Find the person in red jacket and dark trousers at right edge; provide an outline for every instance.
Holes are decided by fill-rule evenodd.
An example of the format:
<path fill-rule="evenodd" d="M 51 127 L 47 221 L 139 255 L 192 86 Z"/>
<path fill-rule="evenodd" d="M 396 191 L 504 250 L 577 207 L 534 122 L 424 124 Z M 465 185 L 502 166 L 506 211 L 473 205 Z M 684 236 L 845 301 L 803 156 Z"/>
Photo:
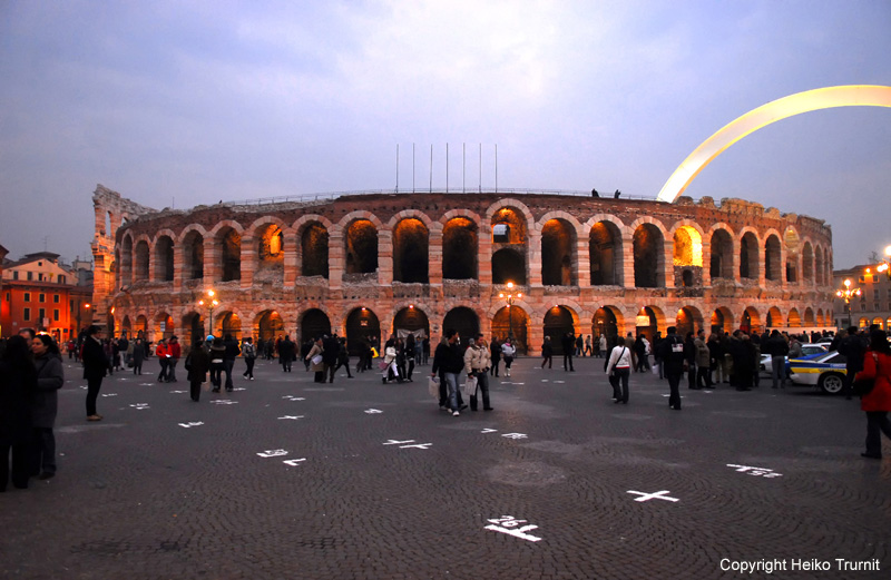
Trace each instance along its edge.
<path fill-rule="evenodd" d="M 872 379 L 875 386 L 860 400 L 860 409 L 866 412 L 866 451 L 864 458 L 882 459 L 882 435 L 891 439 L 891 345 L 884 331 L 870 333 L 870 347 L 863 356 L 863 370 L 855 381 Z"/>

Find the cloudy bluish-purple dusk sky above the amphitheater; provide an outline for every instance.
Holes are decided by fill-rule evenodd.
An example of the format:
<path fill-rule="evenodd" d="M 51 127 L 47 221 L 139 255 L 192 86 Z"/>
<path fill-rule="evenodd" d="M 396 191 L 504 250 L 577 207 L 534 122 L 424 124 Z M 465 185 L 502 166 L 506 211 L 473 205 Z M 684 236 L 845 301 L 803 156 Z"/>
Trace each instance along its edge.
<path fill-rule="evenodd" d="M 654 197 L 771 100 L 891 85 L 891 2 L 0 0 L 0 245 L 89 256 L 97 184 L 156 208 L 395 187 Z M 891 244 L 891 108 L 771 125 L 687 189 Z M 411 205 L 411 197 L 405 197 Z"/>

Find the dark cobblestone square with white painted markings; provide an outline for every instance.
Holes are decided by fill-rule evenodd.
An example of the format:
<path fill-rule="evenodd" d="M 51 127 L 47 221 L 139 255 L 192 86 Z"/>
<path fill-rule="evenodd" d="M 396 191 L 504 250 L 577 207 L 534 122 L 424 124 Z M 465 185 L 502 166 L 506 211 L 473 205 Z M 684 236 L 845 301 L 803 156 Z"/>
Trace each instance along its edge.
<path fill-rule="evenodd" d="M 457 417 L 429 366 L 320 385 L 263 361 L 247 382 L 238 361 L 238 390 L 200 403 L 182 379 L 116 373 L 99 423 L 69 366 L 58 475 L 0 495 L 0 577 L 891 577 L 891 442 L 860 456 L 856 401 L 684 386 L 677 412 L 633 374 L 616 405 L 601 360 L 537 365 Z M 814 561 L 829 570 L 795 570 Z"/>

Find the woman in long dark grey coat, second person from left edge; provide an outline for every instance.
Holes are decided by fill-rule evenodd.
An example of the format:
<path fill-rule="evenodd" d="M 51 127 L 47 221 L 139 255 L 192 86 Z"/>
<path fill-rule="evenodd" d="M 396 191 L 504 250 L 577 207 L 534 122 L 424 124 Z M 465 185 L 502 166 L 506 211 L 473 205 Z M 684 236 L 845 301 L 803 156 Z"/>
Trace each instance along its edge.
<path fill-rule="evenodd" d="M 59 407 L 59 389 L 65 384 L 62 355 L 56 341 L 48 334 L 38 334 L 31 341 L 37 371 L 37 391 L 31 402 L 33 449 L 31 474 L 41 480 L 56 475 L 56 413 Z"/>

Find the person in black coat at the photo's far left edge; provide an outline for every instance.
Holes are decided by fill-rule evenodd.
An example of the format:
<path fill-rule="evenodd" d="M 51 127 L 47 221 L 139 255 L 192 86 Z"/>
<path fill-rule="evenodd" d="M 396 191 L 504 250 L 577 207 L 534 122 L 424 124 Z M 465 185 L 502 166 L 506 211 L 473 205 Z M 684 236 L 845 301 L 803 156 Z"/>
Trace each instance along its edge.
<path fill-rule="evenodd" d="M 28 488 L 30 449 L 33 439 L 31 401 L 37 392 L 37 371 L 31 363 L 28 341 L 12 336 L 0 360 L 0 492 L 9 481 L 9 452 L 12 451 L 12 485 Z"/>

